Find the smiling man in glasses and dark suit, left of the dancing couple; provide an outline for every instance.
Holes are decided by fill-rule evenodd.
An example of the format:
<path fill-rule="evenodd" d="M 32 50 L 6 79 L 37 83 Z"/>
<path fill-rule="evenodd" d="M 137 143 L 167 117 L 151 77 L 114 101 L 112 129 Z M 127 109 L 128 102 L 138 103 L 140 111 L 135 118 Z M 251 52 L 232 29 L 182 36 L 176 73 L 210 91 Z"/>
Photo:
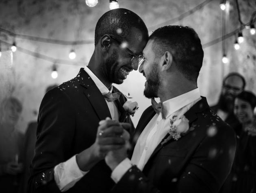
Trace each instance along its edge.
<path fill-rule="evenodd" d="M 41 102 L 30 192 L 110 191 L 114 182 L 104 157 L 124 146 L 125 125 L 104 132 L 97 128 L 106 117 L 124 121 L 126 98 L 112 83 L 123 83 L 138 69 L 147 40 L 144 22 L 130 10 L 114 9 L 100 17 L 88 66 L 46 93 Z"/>

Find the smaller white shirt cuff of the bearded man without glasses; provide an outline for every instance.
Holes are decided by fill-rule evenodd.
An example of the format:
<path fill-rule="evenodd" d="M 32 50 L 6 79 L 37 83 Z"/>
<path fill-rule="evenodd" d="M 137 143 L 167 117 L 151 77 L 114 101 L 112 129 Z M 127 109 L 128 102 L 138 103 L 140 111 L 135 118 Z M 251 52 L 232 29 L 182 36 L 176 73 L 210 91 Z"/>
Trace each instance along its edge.
<path fill-rule="evenodd" d="M 113 170 L 111 174 L 111 178 L 115 183 L 119 182 L 119 180 L 124 176 L 124 174 L 132 167 L 132 162 L 130 159 L 126 158 L 121 161 L 117 167 Z"/>

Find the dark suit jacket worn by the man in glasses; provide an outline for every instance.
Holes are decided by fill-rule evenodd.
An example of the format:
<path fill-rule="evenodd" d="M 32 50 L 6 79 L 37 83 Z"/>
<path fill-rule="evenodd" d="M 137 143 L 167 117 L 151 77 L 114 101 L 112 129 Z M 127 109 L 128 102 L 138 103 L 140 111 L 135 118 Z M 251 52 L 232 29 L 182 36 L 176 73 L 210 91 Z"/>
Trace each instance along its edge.
<path fill-rule="evenodd" d="M 113 92 L 117 91 L 113 87 Z M 125 101 L 122 94 L 115 100 L 121 117 Z M 99 121 L 106 117 L 111 117 L 106 101 L 83 68 L 72 80 L 48 91 L 39 109 L 30 192 L 60 192 L 54 167 L 89 148 L 95 142 Z M 127 122 L 131 122 L 130 118 Z M 108 192 L 113 186 L 110 175 L 111 170 L 102 160 L 66 192 Z"/>

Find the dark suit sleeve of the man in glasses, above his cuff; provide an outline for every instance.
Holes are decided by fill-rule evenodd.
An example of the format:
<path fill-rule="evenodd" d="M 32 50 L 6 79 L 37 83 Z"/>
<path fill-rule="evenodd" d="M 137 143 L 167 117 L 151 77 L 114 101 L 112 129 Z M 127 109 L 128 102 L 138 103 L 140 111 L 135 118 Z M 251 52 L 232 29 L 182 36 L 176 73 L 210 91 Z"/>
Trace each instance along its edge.
<path fill-rule="evenodd" d="M 54 181 L 54 167 L 72 157 L 75 113 L 69 97 L 58 88 L 44 96 L 39 109 L 35 157 L 30 166 L 28 189 L 60 192 Z"/>

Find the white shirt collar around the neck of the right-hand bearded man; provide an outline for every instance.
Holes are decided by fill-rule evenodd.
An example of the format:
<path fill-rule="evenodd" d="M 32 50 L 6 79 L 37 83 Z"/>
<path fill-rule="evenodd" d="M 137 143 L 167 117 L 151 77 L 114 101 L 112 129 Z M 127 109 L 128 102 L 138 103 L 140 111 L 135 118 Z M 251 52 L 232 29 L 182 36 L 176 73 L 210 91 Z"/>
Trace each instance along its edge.
<path fill-rule="evenodd" d="M 175 98 L 166 100 L 165 102 L 163 102 L 163 106 L 166 112 L 165 117 L 168 117 L 169 115 L 173 114 L 180 108 L 190 104 L 191 102 L 199 98 L 201 98 L 199 88 L 196 88 L 196 89 L 193 89 L 192 91 L 179 95 Z"/>

